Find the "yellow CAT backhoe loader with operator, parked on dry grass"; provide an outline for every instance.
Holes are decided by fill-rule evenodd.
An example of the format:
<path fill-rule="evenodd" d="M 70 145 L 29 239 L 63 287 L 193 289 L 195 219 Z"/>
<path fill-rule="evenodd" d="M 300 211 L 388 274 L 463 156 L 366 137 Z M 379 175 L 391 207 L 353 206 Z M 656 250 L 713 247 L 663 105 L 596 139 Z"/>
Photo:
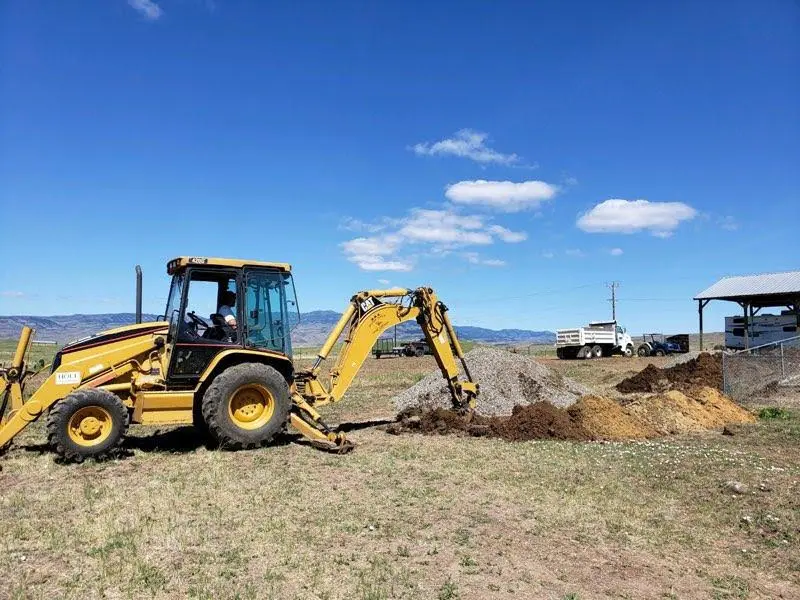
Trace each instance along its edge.
<path fill-rule="evenodd" d="M 129 423 L 193 423 L 230 449 L 268 444 L 291 425 L 314 445 L 345 452 L 353 444 L 317 409 L 342 398 L 381 333 L 411 319 L 425 334 L 453 406 L 465 413 L 474 407 L 478 384 L 447 307 L 430 288 L 354 295 L 313 366 L 297 370 L 290 330 L 299 315 L 288 264 L 179 257 L 167 263 L 167 273 L 172 284 L 162 318 L 141 322 L 137 267 L 136 324 L 64 346 L 27 401 L 33 331 L 23 328 L 10 367 L 0 370 L 0 448 L 46 415 L 48 441 L 66 460 L 109 455 Z M 324 382 L 322 363 L 342 333 Z"/>

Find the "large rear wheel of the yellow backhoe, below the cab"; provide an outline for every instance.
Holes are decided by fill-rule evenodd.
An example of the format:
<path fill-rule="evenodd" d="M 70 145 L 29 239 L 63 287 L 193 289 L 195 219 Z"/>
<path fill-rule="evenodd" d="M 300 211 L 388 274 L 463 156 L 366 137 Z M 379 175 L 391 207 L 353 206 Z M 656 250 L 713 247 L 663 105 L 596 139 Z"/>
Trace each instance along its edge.
<path fill-rule="evenodd" d="M 221 448 L 257 448 L 286 425 L 291 400 L 283 375 L 261 363 L 225 369 L 203 395 L 203 418 Z"/>

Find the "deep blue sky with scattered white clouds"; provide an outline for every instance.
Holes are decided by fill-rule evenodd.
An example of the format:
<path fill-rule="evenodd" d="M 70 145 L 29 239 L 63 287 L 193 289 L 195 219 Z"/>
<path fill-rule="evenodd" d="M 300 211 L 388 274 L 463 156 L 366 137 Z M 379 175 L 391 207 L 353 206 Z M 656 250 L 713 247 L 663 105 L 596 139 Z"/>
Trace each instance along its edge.
<path fill-rule="evenodd" d="M 0 314 L 145 308 L 180 254 L 303 310 L 431 285 L 457 323 L 618 316 L 798 268 L 800 4 L 7 0 Z M 709 307 L 707 329 L 733 308 Z"/>

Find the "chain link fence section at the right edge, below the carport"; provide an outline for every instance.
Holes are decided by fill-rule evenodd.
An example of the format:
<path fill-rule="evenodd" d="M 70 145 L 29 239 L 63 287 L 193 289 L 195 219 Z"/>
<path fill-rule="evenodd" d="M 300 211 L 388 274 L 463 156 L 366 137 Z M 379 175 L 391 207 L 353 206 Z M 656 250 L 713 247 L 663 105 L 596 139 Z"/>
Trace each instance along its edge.
<path fill-rule="evenodd" d="M 800 386 L 800 336 L 722 355 L 723 389 L 735 400 L 772 386 Z"/>

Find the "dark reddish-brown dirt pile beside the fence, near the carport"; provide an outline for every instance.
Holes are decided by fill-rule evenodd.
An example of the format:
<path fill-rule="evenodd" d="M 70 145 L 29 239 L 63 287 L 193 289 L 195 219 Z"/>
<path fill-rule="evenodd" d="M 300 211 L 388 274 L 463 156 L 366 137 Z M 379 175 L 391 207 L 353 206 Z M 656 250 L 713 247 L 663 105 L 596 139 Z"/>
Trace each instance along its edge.
<path fill-rule="evenodd" d="M 624 394 L 665 392 L 669 389 L 686 391 L 693 387 L 721 390 L 722 355 L 704 352 L 697 358 L 666 369 L 650 364 L 636 375 L 623 379 L 616 387 Z"/>

